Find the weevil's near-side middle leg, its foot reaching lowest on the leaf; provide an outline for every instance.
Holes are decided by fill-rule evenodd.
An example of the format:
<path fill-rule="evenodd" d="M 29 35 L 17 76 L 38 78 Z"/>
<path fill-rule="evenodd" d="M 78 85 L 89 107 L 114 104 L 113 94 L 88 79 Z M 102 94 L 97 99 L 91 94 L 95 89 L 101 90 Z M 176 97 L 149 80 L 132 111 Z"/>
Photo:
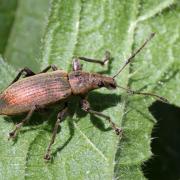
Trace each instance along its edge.
<path fill-rule="evenodd" d="M 67 111 L 68 111 L 68 108 L 67 108 L 67 105 L 65 106 L 65 108 L 63 110 L 61 110 L 58 115 L 57 115 L 57 121 L 55 123 L 55 126 L 54 126 L 54 129 L 53 129 L 53 134 L 52 134 L 52 137 L 51 137 L 51 141 L 48 145 L 48 148 L 47 148 L 47 151 L 46 151 L 46 154 L 44 156 L 44 159 L 46 160 L 50 160 L 51 159 L 51 156 L 50 156 L 50 153 L 51 153 L 51 146 L 53 145 L 54 141 L 55 141 L 55 138 L 56 138 L 56 134 L 57 134 L 57 130 L 58 130 L 58 127 L 60 126 L 60 123 L 63 121 L 63 119 L 65 118 L 66 114 L 67 114 Z"/>

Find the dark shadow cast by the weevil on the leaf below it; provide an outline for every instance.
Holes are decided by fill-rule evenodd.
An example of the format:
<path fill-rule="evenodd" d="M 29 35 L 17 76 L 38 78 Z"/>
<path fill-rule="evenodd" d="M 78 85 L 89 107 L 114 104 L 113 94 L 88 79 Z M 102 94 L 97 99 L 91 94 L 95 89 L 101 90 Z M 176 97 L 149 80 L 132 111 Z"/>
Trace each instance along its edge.
<path fill-rule="evenodd" d="M 68 126 L 69 126 L 69 132 L 70 137 L 67 139 L 67 141 L 61 145 L 55 152 L 53 152 L 52 156 L 55 157 L 58 152 L 60 152 L 62 149 L 64 149 L 68 143 L 71 141 L 71 139 L 74 136 L 74 126 L 71 121 L 71 117 L 76 113 L 77 114 L 77 120 L 76 122 L 80 121 L 83 117 L 87 115 L 86 112 L 82 111 L 79 107 L 79 97 L 72 97 L 70 101 L 68 101 L 68 108 L 69 108 L 69 116 L 68 118 Z M 103 111 L 107 108 L 116 106 L 121 101 L 121 96 L 118 96 L 117 94 L 101 94 L 98 92 L 91 92 L 88 96 L 88 101 L 90 102 L 91 108 L 95 111 Z M 42 128 L 45 131 L 52 132 L 52 129 L 54 128 L 55 121 L 57 119 L 57 114 L 59 110 L 62 109 L 62 105 L 60 107 L 55 106 L 54 109 L 50 108 L 47 109 L 44 113 L 35 112 L 33 116 L 31 117 L 29 124 L 25 125 L 28 128 L 22 128 L 20 130 L 20 133 L 27 133 L 27 131 L 31 130 L 37 130 L 38 128 Z M 52 112 L 53 111 L 53 112 Z M 10 123 L 19 123 L 22 121 L 22 119 L 26 116 L 26 114 L 18 115 L 18 116 L 12 116 L 12 117 L 5 117 L 5 120 Z M 48 123 L 44 126 L 38 126 L 42 125 L 44 121 L 48 119 Z M 94 115 L 90 115 L 90 120 L 92 124 L 100 129 L 101 131 L 109 131 L 111 130 L 111 127 L 105 128 L 104 119 L 99 118 Z M 62 122 L 63 123 L 63 122 Z M 60 129 L 58 130 L 58 133 L 60 133 Z M 18 137 L 15 139 L 14 143 L 16 143 L 18 140 Z"/>

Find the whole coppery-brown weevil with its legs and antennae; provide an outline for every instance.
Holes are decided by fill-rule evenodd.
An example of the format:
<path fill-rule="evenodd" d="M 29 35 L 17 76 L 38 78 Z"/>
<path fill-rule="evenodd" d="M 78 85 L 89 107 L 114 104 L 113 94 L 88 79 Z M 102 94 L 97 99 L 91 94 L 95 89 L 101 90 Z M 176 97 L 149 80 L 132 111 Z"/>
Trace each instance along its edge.
<path fill-rule="evenodd" d="M 64 103 L 64 108 L 58 113 L 57 120 L 52 132 L 50 143 L 47 147 L 44 158 L 50 159 L 51 146 L 55 141 L 56 134 L 60 123 L 65 118 L 68 111 L 68 98 L 70 96 L 80 96 L 80 106 L 83 111 L 100 116 L 109 121 L 112 129 L 117 135 L 120 135 L 122 129 L 118 127 L 109 116 L 92 110 L 87 100 L 88 92 L 91 90 L 105 87 L 107 89 L 115 89 L 120 87 L 131 94 L 149 95 L 158 98 L 161 101 L 166 101 L 163 97 L 152 93 L 143 93 L 130 90 L 118 86 L 115 78 L 120 72 L 134 59 L 147 42 L 154 36 L 152 33 L 149 38 L 137 49 L 125 62 L 122 68 L 113 76 L 108 77 L 98 73 L 82 71 L 80 60 L 97 63 L 100 65 L 106 64 L 110 59 L 110 53 L 105 53 L 103 60 L 90 59 L 86 57 L 75 57 L 73 59 L 73 70 L 70 73 L 64 70 L 58 70 L 55 65 L 50 65 L 38 74 L 35 74 L 29 68 L 23 68 L 12 81 L 12 83 L 0 94 L 0 114 L 16 115 L 27 113 L 26 117 L 18 124 L 15 129 L 9 133 L 9 138 L 15 138 L 20 128 L 28 123 L 33 112 L 37 109 L 44 108 L 54 103 Z M 50 69 L 52 71 L 48 72 Z M 25 77 L 19 79 L 25 73 Z"/>

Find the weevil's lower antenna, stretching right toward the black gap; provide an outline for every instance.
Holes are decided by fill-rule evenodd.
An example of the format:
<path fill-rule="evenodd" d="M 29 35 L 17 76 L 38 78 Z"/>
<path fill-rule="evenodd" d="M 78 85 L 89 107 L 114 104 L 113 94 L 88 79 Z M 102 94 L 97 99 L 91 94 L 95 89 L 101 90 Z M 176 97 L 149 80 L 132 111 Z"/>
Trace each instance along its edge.
<path fill-rule="evenodd" d="M 138 92 L 138 91 L 134 91 L 134 90 L 129 89 L 129 88 L 125 88 L 125 87 L 119 86 L 119 85 L 118 85 L 118 87 L 123 89 L 123 90 L 125 90 L 127 93 L 132 94 L 132 95 L 152 96 L 152 97 L 158 99 L 159 101 L 162 101 L 164 103 L 168 103 L 168 100 L 166 98 L 164 98 L 162 96 L 159 96 L 157 94 L 148 93 L 148 92 Z"/>

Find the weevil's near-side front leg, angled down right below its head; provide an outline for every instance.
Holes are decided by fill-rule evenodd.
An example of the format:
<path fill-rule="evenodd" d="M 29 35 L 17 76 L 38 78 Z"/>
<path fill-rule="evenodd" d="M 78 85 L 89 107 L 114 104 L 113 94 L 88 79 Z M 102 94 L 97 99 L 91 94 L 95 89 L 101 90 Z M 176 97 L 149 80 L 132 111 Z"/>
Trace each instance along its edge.
<path fill-rule="evenodd" d="M 117 127 L 117 125 L 111 120 L 111 118 L 101 112 L 97 112 L 97 111 L 94 111 L 90 108 L 90 104 L 89 102 L 86 100 L 86 99 L 82 99 L 81 100 L 81 108 L 83 111 L 85 112 L 88 112 L 90 114 L 94 114 L 94 115 L 97 115 L 97 116 L 100 116 L 100 117 L 103 117 L 104 119 L 106 119 L 111 127 L 114 129 L 114 131 L 116 132 L 117 135 L 120 135 L 121 132 L 122 132 L 122 129 Z"/>

